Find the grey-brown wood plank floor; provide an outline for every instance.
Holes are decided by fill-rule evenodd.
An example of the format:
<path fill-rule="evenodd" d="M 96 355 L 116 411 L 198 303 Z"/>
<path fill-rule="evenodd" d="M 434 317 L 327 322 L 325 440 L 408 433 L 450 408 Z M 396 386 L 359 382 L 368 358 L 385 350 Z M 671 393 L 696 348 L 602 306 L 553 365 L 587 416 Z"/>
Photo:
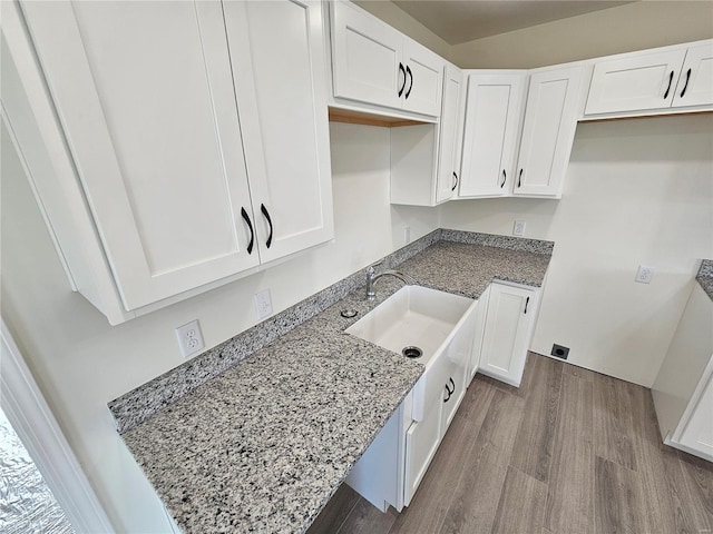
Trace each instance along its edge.
<path fill-rule="evenodd" d="M 651 392 L 529 354 L 477 375 L 411 505 L 345 484 L 307 534 L 713 533 L 713 464 L 661 443 Z"/>

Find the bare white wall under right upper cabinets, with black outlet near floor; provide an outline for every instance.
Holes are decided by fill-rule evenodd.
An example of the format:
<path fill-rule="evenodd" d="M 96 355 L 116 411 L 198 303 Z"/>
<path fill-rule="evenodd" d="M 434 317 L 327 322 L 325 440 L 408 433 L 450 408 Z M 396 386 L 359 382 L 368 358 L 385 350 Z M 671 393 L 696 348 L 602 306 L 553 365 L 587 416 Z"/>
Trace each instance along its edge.
<path fill-rule="evenodd" d="M 449 202 L 448 228 L 555 241 L 531 348 L 649 387 L 713 257 L 713 117 L 579 123 L 560 200 Z M 639 264 L 653 283 L 634 281 Z"/>

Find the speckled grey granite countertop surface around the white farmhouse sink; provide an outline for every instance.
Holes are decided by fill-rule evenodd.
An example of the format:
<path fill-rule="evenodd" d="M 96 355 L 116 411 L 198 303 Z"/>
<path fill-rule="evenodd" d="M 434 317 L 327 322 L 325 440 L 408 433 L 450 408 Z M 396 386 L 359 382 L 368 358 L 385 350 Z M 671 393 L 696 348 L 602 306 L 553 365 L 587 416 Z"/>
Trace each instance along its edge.
<path fill-rule="evenodd" d="M 494 278 L 540 286 L 550 259 L 442 239 L 398 268 L 478 297 Z M 343 333 L 400 287 L 353 290 L 123 434 L 184 533 L 306 531 L 423 372 Z"/>

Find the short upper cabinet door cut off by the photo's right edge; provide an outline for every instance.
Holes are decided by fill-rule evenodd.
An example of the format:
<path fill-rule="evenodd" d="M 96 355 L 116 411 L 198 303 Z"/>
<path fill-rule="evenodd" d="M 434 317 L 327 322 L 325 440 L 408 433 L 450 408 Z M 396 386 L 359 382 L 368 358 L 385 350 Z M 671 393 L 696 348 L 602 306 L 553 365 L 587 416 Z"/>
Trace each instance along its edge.
<path fill-rule="evenodd" d="M 690 48 L 673 107 L 713 105 L 713 42 Z"/>

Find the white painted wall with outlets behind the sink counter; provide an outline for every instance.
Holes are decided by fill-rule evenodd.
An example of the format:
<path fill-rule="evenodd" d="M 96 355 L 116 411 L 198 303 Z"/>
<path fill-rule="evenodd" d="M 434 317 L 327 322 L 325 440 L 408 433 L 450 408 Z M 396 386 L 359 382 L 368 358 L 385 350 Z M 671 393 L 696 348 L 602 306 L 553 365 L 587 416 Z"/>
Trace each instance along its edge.
<path fill-rule="evenodd" d="M 14 149 L 2 131 L 1 301 L 13 337 L 119 532 L 170 532 L 153 488 L 114 431 L 107 402 L 182 364 L 174 328 L 198 318 L 208 347 L 438 227 L 438 212 L 389 205 L 389 130 L 332 123 L 335 238 L 264 273 L 110 327 L 74 294 Z"/>

